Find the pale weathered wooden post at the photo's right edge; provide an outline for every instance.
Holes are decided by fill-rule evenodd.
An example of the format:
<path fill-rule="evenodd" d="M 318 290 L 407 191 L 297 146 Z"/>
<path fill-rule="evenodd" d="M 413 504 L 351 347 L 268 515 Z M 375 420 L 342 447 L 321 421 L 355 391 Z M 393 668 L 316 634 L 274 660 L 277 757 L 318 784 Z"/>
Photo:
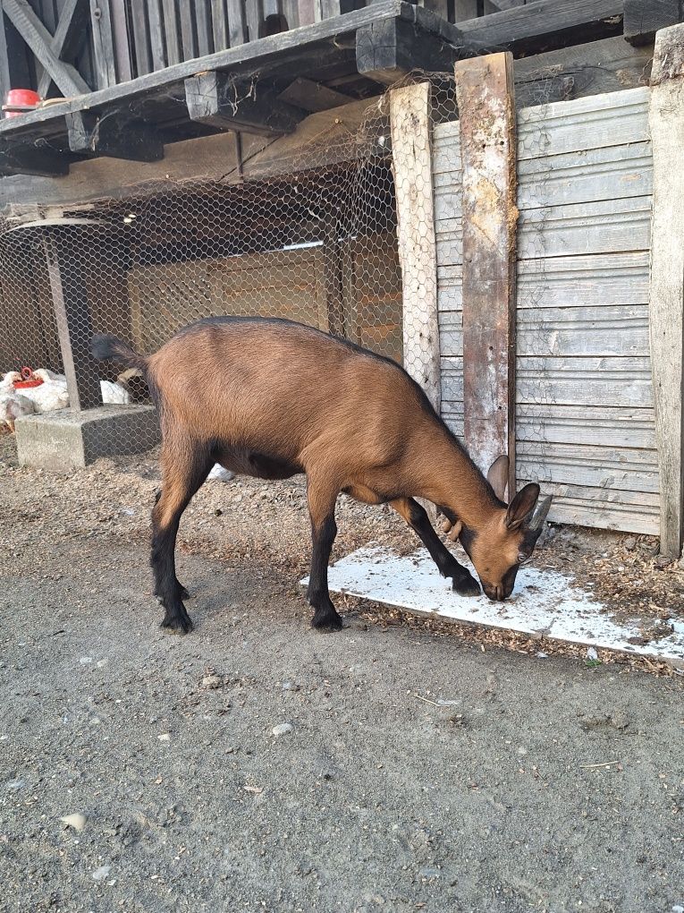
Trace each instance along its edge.
<path fill-rule="evenodd" d="M 648 120 L 653 146 L 650 342 L 660 473 L 660 551 L 679 556 L 684 533 L 684 26 L 658 32 Z"/>

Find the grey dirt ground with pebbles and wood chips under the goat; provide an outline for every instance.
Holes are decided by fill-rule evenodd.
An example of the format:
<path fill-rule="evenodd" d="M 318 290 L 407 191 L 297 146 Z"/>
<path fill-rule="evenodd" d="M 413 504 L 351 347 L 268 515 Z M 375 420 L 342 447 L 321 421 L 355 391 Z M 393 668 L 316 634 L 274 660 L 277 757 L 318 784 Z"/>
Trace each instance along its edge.
<path fill-rule="evenodd" d="M 681 913 L 679 670 L 351 598 L 317 634 L 299 482 L 202 488 L 196 629 L 169 635 L 158 485 L 149 457 L 19 469 L 0 438 L 1 909 Z M 337 557 L 415 548 L 383 509 L 338 526 Z M 681 614 L 654 540 L 555 530 L 537 562 L 645 637 Z"/>

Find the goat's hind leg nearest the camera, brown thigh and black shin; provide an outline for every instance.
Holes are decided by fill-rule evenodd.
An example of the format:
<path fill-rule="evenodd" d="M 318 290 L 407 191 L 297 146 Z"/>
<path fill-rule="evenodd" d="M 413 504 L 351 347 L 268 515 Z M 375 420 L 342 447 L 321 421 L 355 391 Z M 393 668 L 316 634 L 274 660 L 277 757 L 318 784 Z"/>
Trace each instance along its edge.
<path fill-rule="evenodd" d="M 176 577 L 176 536 L 182 512 L 207 477 L 211 459 L 201 446 L 183 444 L 162 450 L 163 486 L 152 510 L 151 565 L 154 593 L 165 610 L 161 626 L 185 634 L 192 629 L 192 621 L 182 602 L 187 592 Z"/>

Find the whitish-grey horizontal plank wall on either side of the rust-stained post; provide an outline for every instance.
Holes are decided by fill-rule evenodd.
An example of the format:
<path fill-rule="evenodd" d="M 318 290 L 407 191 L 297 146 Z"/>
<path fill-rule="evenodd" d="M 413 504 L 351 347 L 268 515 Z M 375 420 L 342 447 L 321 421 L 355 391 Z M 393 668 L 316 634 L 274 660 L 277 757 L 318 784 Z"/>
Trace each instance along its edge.
<path fill-rule="evenodd" d="M 552 519 L 658 533 L 648 89 L 518 114 L 518 486 Z M 461 154 L 434 130 L 442 414 L 462 434 Z"/>

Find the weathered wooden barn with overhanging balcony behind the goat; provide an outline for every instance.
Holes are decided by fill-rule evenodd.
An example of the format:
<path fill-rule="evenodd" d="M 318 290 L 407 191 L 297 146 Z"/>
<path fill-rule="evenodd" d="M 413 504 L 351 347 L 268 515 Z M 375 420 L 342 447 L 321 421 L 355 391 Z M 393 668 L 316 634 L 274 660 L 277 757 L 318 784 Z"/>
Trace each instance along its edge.
<path fill-rule="evenodd" d="M 306 320 L 552 519 L 679 555 L 679 2 L 0 5 L 3 96 L 44 99 L 0 121 L 0 369 L 97 412 L 93 330 Z"/>

